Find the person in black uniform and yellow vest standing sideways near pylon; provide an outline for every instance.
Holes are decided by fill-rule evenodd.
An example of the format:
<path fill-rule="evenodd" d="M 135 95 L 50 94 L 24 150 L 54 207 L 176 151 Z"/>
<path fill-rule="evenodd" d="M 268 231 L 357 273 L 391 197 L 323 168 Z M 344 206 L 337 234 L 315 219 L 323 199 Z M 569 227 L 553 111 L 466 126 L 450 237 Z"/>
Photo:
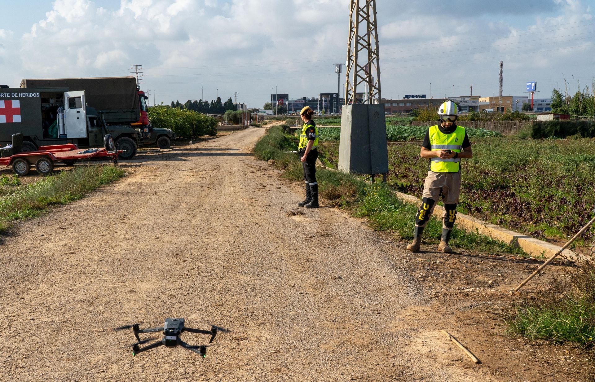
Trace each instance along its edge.
<path fill-rule="evenodd" d="M 300 207 L 318 208 L 318 182 L 316 181 L 316 159 L 318 159 L 318 128 L 312 121 L 314 110 L 306 106 L 299 112 L 303 127 L 299 136 L 300 160 L 302 161 L 303 179 L 306 181 L 306 199 L 297 203 Z"/>

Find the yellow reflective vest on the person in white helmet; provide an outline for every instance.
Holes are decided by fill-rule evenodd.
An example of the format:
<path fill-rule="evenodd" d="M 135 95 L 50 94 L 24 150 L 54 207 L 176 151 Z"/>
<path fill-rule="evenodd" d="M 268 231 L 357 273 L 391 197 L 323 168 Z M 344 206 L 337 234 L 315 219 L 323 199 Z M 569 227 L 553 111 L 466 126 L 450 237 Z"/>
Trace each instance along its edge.
<path fill-rule="evenodd" d="M 438 125 L 430 127 L 431 151 L 451 149 L 453 152 L 461 152 L 463 140 L 465 139 L 465 127 L 457 126 L 450 134 L 444 134 L 438 129 Z M 461 169 L 461 158 L 442 159 L 434 157 L 430 159 L 430 170 L 434 173 L 458 173 Z"/>

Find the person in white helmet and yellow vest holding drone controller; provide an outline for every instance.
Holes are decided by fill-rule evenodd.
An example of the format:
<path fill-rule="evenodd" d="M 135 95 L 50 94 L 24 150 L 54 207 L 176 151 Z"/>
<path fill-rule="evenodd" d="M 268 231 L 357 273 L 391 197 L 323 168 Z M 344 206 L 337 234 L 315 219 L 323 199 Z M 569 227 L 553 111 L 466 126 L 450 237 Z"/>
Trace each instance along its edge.
<path fill-rule="evenodd" d="M 461 158 L 471 158 L 471 143 L 465 128 L 457 126 L 459 107 L 445 101 L 438 109 L 439 122 L 425 133 L 419 156 L 429 159 L 428 175 L 424 181 L 421 206 L 415 215 L 413 242 L 407 246 L 411 252 L 419 251 L 421 234 L 430 220 L 440 196 L 444 205 L 442 237 L 439 252 L 451 253 L 448 242 L 455 226 L 456 205 L 461 192 Z"/>

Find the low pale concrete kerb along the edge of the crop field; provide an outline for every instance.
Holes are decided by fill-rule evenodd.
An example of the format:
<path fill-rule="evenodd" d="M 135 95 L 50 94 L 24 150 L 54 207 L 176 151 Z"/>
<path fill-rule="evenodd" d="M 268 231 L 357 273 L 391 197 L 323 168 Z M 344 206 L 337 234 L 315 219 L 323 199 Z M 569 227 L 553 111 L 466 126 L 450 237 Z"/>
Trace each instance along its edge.
<path fill-rule="evenodd" d="M 328 168 L 324 166 L 320 167 L 323 167 L 331 171 L 337 171 L 334 168 Z M 421 204 L 421 200 L 419 200 L 415 196 L 398 191 L 393 192 L 394 195 L 397 196 L 397 198 L 401 199 L 404 202 L 413 203 L 416 205 Z M 434 215 L 437 218 L 441 219 L 443 214 L 444 209 L 442 208 L 442 206 L 437 205 L 434 208 Z M 515 248 L 521 248 L 523 251 L 527 252 L 529 255 L 534 257 L 543 256 L 549 258 L 550 256 L 553 256 L 556 252 L 560 251 L 560 249 L 562 248 L 560 246 L 553 245 L 552 243 L 536 239 L 535 237 L 507 230 L 506 228 L 496 226 L 496 224 L 487 223 L 487 221 L 479 220 L 477 218 L 461 213 L 456 214 L 456 224 L 458 224 L 458 226 L 464 229 L 465 231 L 477 231 L 479 234 L 491 237 L 494 240 L 499 240 L 500 242 L 504 242 Z M 569 249 L 565 249 L 562 253 L 560 253 L 559 256 L 567 260 L 574 261 L 581 261 L 590 258 L 589 256 L 577 255 L 577 253 L 574 253 Z"/>

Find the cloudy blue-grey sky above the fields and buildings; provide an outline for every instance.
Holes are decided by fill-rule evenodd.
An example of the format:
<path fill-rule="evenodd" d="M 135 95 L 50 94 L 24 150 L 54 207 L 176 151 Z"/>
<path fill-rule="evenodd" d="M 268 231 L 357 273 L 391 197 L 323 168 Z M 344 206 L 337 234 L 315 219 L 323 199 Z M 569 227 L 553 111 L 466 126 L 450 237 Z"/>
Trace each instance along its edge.
<path fill-rule="evenodd" d="M 537 81 L 590 86 L 595 0 L 377 0 L 383 98 L 522 95 Z M 142 64 L 154 102 L 214 99 L 262 107 L 335 92 L 348 0 L 0 0 L 0 83 L 126 76 Z M 341 79 L 345 81 L 344 78 Z M 453 87 L 454 85 L 454 87 Z M 343 96 L 343 89 L 341 90 Z M 273 91 L 274 92 L 274 91 Z"/>

